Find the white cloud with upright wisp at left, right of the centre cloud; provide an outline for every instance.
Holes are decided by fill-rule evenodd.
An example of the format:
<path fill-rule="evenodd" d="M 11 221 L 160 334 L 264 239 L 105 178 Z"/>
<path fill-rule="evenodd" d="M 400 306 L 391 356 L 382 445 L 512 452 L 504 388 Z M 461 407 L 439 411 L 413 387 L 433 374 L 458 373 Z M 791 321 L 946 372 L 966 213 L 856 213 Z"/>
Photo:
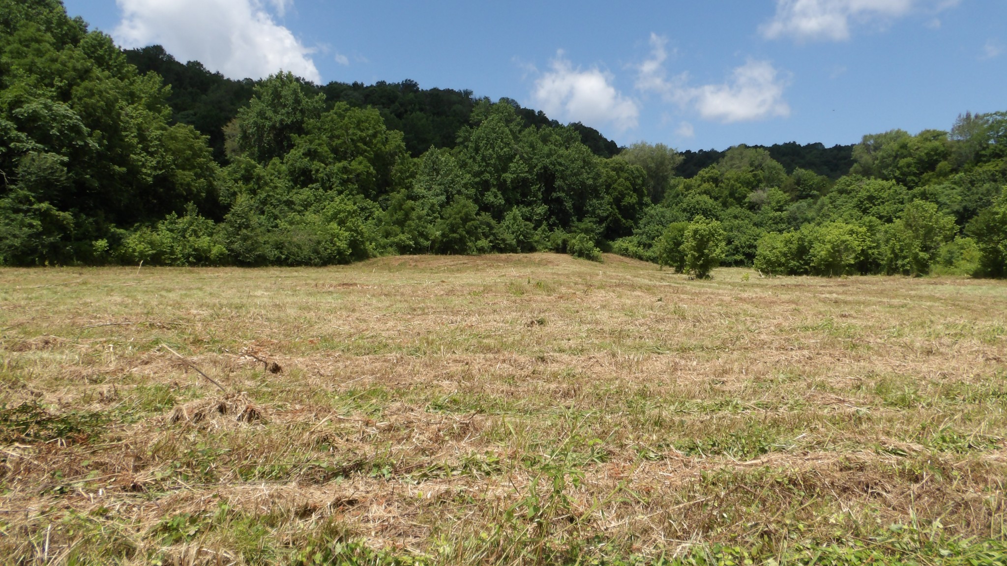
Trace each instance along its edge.
<path fill-rule="evenodd" d="M 668 79 L 666 44 L 667 39 L 651 35 L 651 58 L 637 66 L 638 90 L 691 106 L 704 119 L 725 124 L 789 116 L 790 107 L 783 100 L 787 81 L 769 61 L 749 59 L 724 84 L 690 87 L 687 74 Z"/>

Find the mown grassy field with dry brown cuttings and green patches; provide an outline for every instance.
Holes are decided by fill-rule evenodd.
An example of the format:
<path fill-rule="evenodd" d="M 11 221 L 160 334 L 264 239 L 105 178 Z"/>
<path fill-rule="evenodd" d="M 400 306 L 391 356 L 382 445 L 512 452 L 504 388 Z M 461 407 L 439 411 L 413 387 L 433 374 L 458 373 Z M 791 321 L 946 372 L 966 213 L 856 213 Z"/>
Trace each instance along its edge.
<path fill-rule="evenodd" d="M 0 330 L 4 563 L 1007 563 L 1007 282 L 4 269 Z"/>

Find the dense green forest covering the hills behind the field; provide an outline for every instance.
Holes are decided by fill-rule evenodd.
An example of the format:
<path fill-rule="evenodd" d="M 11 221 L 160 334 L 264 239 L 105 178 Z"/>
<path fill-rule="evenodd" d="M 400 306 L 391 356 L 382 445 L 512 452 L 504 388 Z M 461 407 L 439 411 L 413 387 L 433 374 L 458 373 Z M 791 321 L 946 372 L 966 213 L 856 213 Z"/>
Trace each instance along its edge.
<path fill-rule="evenodd" d="M 231 81 L 0 0 L 0 264 L 297 266 L 602 252 L 696 277 L 1007 275 L 1007 113 L 678 152 L 510 99 Z"/>

